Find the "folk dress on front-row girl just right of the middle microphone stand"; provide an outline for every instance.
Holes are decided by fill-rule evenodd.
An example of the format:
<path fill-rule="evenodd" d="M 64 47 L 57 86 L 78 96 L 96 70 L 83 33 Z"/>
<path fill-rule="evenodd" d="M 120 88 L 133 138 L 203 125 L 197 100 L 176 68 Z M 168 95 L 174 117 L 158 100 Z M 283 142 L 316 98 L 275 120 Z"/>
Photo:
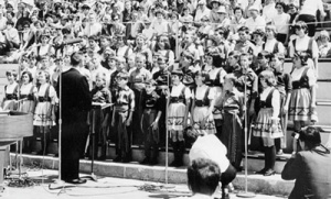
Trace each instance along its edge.
<path fill-rule="evenodd" d="M 184 130 L 185 99 L 188 98 L 192 98 L 192 92 L 182 82 L 172 86 L 168 108 L 168 131 L 182 132 Z M 183 133 L 179 133 L 179 140 L 183 141 Z"/>

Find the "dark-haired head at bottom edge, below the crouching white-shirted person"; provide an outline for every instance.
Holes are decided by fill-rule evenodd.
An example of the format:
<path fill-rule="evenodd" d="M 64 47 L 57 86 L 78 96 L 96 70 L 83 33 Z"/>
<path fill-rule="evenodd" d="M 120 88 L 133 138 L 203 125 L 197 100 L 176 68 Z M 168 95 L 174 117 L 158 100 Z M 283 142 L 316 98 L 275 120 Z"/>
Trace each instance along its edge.
<path fill-rule="evenodd" d="M 193 194 L 212 196 L 218 186 L 218 165 L 206 158 L 196 158 L 188 167 L 188 184 Z"/>

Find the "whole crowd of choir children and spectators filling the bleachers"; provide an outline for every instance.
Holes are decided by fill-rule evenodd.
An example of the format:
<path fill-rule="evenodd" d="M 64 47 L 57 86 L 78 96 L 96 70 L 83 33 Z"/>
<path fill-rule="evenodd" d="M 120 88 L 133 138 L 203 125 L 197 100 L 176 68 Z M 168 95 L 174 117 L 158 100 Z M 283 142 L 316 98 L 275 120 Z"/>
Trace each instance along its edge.
<path fill-rule="evenodd" d="M 0 2 L 0 59 L 20 64 L 7 73 L 2 109 L 33 113 L 42 148 L 56 125 L 55 88 L 73 52 L 84 56 L 78 69 L 93 101 L 114 104 L 98 112 L 97 144 L 113 140 L 116 162 L 130 162 L 131 145 L 145 144 L 142 164 L 157 164 L 168 131 L 171 165 L 181 166 L 190 133 L 215 133 L 239 169 L 247 123 L 249 141 L 258 137 L 265 152 L 259 173 L 273 175 L 287 120 L 296 132 L 318 120 L 318 58 L 331 57 L 328 2 Z M 318 26 L 325 30 L 316 34 Z M 284 73 L 286 57 L 291 74 Z"/>

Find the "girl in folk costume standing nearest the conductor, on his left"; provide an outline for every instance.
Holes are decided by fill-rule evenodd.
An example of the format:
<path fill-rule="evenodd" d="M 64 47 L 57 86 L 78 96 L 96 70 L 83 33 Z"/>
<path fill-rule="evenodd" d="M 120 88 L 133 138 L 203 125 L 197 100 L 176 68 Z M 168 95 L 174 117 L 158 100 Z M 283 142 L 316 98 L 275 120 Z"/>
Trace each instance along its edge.
<path fill-rule="evenodd" d="M 35 139 L 41 140 L 42 150 L 39 154 L 46 154 L 47 143 L 50 142 L 50 130 L 55 125 L 54 106 L 56 92 L 50 84 L 50 74 L 40 71 L 38 74 L 36 106 L 33 118 L 33 125 L 36 126 Z"/>

